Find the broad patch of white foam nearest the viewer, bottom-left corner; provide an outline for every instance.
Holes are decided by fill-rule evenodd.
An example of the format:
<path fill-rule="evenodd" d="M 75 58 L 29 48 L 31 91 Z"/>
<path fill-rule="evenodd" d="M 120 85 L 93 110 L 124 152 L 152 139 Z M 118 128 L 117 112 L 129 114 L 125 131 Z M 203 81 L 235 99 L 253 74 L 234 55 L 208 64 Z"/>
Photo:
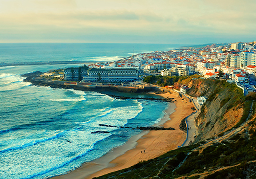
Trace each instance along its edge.
<path fill-rule="evenodd" d="M 0 178 L 45 178 L 42 176 L 48 172 L 63 172 L 62 166 L 87 154 L 94 148 L 95 143 L 109 136 L 110 134 L 96 136 L 90 131 L 72 130 L 50 141 L 4 152 L 1 154 L 3 160 Z M 36 160 L 31 162 L 28 159 Z M 79 165 L 81 163 L 73 163 L 73 168 L 69 170 Z"/>

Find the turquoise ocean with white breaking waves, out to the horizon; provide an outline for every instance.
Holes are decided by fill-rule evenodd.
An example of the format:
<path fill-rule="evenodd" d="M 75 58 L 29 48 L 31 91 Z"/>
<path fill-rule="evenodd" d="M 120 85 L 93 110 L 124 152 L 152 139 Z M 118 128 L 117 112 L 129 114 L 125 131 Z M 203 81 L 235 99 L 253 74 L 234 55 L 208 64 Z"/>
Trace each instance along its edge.
<path fill-rule="evenodd" d="M 176 47 L 178 45 L 170 44 L 0 43 L 0 63 L 113 61 L 131 56 L 133 49 L 136 54 Z M 35 86 L 20 76 L 69 66 L 0 67 L 0 178 L 49 178 L 65 174 L 82 163 L 100 158 L 141 132 L 99 124 L 150 126 L 164 116 L 168 105 L 164 102 L 119 100 L 97 92 Z M 109 133 L 91 133 L 98 130 Z"/>

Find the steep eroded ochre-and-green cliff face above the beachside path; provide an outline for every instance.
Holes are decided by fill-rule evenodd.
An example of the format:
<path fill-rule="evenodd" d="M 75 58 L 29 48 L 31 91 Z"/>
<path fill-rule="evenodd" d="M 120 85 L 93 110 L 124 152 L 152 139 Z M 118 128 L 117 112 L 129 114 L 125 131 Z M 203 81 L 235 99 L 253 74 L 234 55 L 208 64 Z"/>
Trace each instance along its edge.
<path fill-rule="evenodd" d="M 195 142 L 219 135 L 241 120 L 244 103 L 240 102 L 244 97 L 242 89 L 235 84 L 224 80 L 200 79 L 190 80 L 187 85 L 190 88 L 188 95 L 208 98 L 195 120 L 198 127 Z"/>

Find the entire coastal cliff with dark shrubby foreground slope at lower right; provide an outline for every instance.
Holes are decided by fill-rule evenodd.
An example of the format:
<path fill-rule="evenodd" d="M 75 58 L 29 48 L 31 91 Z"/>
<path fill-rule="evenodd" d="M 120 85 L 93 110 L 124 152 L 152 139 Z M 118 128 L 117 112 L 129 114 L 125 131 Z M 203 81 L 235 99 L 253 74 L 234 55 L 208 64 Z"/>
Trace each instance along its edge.
<path fill-rule="evenodd" d="M 188 95 L 206 96 L 195 122 L 197 138 L 187 147 L 98 178 L 254 178 L 256 171 L 255 93 L 243 96 L 233 83 L 190 79 Z M 136 177 L 135 177 L 136 176 Z"/>

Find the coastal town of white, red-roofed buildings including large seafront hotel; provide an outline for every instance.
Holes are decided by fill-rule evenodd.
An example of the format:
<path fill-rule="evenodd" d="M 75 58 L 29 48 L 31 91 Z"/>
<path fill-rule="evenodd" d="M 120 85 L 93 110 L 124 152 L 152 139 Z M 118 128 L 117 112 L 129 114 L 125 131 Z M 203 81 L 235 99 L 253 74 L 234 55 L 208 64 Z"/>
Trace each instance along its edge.
<path fill-rule="evenodd" d="M 122 85 L 144 87 L 144 77 L 201 75 L 201 78 L 221 78 L 236 83 L 244 94 L 255 90 L 256 41 L 211 44 L 202 48 L 140 53 L 111 62 L 84 64 L 79 68 L 52 70 L 43 76 L 62 79 L 76 85 Z M 135 83 L 140 81 L 140 83 Z M 166 86 L 171 87 L 171 86 Z M 182 86 L 184 91 L 187 86 Z"/>

